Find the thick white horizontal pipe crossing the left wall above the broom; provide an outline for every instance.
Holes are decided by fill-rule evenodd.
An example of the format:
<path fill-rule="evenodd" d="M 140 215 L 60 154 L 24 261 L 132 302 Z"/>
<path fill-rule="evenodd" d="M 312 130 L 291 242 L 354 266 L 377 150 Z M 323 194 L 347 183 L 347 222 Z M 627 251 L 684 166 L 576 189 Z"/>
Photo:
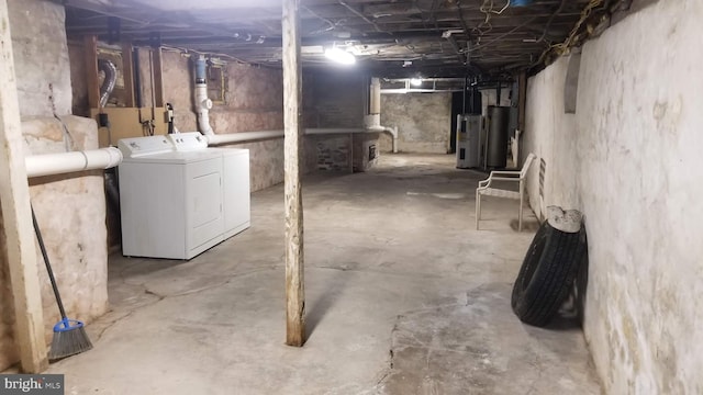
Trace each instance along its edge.
<path fill-rule="evenodd" d="M 109 169 L 122 162 L 115 147 L 85 151 L 32 155 L 24 158 L 27 178 L 55 176 L 74 171 Z"/>

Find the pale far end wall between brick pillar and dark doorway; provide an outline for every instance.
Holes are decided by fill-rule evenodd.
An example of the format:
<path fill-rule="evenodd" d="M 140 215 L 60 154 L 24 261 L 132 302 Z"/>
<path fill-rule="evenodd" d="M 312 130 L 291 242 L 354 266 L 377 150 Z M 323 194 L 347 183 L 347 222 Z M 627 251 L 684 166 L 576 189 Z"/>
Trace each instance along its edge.
<path fill-rule="evenodd" d="M 381 94 L 381 125 L 398 126 L 401 153 L 446 154 L 451 133 L 451 93 Z M 391 153 L 392 138 L 382 134 L 379 150 Z"/>

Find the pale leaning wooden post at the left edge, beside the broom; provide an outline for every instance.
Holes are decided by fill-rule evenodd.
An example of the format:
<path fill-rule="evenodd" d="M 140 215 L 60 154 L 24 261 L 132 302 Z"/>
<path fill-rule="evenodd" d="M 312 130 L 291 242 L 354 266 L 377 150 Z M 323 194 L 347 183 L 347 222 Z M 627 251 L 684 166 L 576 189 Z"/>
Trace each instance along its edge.
<path fill-rule="evenodd" d="M 7 0 L 0 0 L 0 203 L 22 371 L 48 366 Z"/>

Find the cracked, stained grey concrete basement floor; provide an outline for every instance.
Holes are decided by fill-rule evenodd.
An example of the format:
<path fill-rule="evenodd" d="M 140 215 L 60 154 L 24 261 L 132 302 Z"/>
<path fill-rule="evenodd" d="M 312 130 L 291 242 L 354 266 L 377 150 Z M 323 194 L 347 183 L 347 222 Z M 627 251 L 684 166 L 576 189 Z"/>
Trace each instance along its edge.
<path fill-rule="evenodd" d="M 283 345 L 278 185 L 253 194 L 248 230 L 189 262 L 112 256 L 94 349 L 49 372 L 66 394 L 599 394 L 578 327 L 512 314 L 533 232 L 498 199 L 475 230 L 483 177 L 411 155 L 310 176 L 301 349 Z"/>

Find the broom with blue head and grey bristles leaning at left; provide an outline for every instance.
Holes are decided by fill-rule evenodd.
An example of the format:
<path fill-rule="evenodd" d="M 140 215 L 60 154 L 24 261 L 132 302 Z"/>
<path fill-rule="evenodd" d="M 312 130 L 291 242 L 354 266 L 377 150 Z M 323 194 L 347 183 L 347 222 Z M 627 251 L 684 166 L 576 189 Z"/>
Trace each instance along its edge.
<path fill-rule="evenodd" d="M 34 232 L 36 233 L 36 239 L 40 242 L 42 257 L 44 257 L 44 263 L 46 264 L 48 279 L 52 282 L 52 287 L 54 289 L 56 304 L 58 304 L 58 311 L 62 313 L 62 320 L 54 325 L 54 338 L 52 339 L 52 348 L 48 352 L 48 360 L 56 361 L 66 357 L 81 353 L 83 351 L 88 351 L 92 348 L 92 343 L 88 338 L 88 334 L 86 334 L 83 323 L 66 317 L 64 303 L 62 302 L 62 296 L 58 293 L 58 286 L 56 285 L 56 279 L 54 278 L 52 264 L 48 261 L 48 253 L 46 253 L 44 239 L 42 239 L 42 232 L 40 232 L 40 226 L 36 223 L 34 207 L 32 207 L 32 222 L 34 223 Z"/>

